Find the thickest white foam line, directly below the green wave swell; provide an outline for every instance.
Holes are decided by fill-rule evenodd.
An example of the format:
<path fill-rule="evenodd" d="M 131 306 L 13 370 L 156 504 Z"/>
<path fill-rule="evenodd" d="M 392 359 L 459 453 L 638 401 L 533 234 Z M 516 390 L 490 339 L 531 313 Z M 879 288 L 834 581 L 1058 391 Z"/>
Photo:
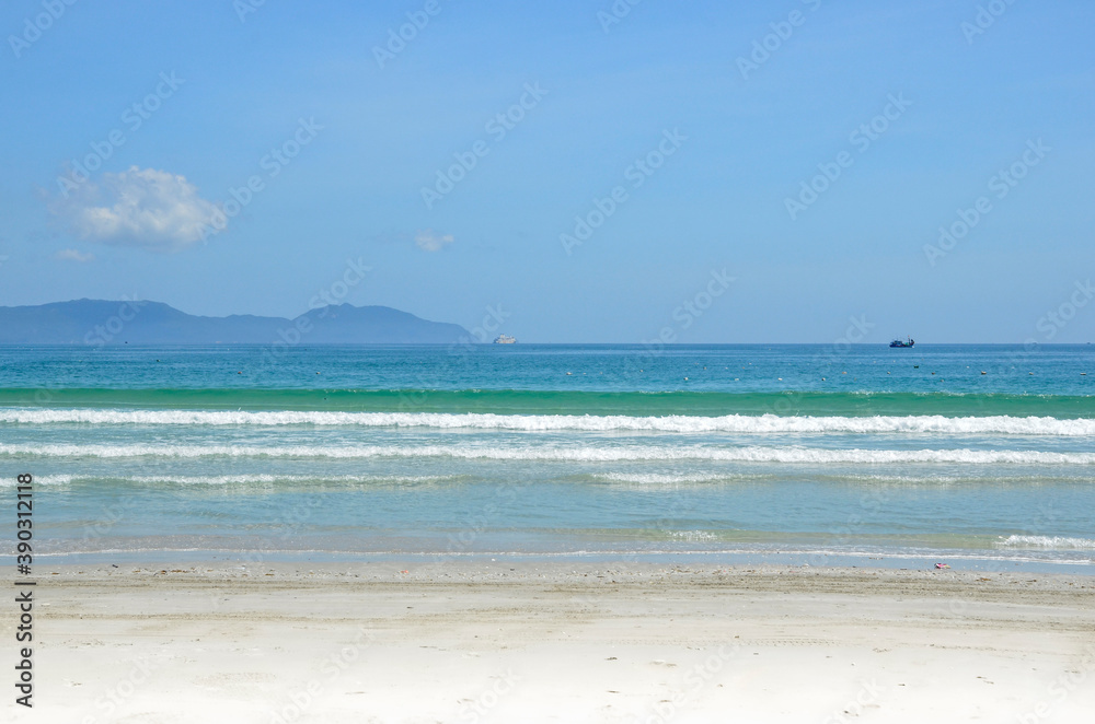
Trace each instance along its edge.
<path fill-rule="evenodd" d="M 653 431 L 726 433 L 927 433 L 1095 436 L 1095 419 L 1049 417 L 875 416 L 780 417 L 775 414 L 627 417 L 591 414 L 451 414 L 435 412 L 323 412 L 245 410 L 0 409 L 0 423 L 154 425 L 343 425 L 550 431 Z"/>

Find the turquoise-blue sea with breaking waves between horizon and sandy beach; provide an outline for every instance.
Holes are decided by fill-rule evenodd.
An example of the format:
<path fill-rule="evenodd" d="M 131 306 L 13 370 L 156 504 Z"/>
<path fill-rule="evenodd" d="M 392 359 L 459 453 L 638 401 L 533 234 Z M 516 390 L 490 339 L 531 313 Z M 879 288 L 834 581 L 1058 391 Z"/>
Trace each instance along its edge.
<path fill-rule="evenodd" d="M 1091 574 L 1095 346 L 4 347 L 19 474 L 39 562 Z"/>

